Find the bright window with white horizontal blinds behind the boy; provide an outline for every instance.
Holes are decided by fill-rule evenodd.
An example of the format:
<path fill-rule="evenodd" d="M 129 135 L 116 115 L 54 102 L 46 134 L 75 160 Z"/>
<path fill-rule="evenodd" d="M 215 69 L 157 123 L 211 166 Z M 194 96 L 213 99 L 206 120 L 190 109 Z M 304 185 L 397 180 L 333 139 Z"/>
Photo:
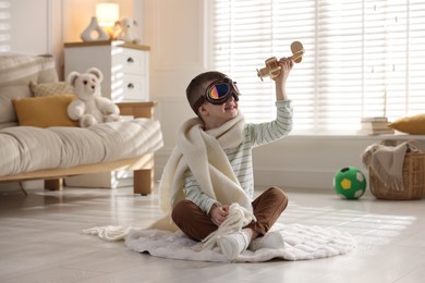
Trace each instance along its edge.
<path fill-rule="evenodd" d="M 251 122 L 274 119 L 274 84 L 256 76 L 270 57 L 305 54 L 287 90 L 294 132 L 341 133 L 363 116 L 425 112 L 422 0 L 214 0 L 211 67 L 239 83 Z"/>

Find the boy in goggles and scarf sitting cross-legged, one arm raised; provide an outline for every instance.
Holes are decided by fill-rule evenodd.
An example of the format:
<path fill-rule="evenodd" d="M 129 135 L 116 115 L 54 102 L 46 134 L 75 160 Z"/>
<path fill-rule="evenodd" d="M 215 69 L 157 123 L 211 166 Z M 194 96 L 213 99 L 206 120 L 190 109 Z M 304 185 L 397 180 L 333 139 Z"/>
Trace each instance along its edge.
<path fill-rule="evenodd" d="M 192 79 L 186 96 L 198 118 L 178 131 L 177 147 L 159 186 L 161 198 L 170 200 L 166 206 L 172 208 L 173 222 L 195 241 L 203 241 L 223 223 L 231 204 L 254 213 L 256 221 L 242 231 L 219 237 L 217 243 L 230 260 L 248 247 L 256 250 L 283 245 L 278 232 L 267 232 L 286 209 L 287 195 L 270 187 L 252 201 L 252 148 L 277 140 L 292 128 L 286 82 L 293 61 L 282 58 L 279 65 L 280 74 L 274 78 L 277 119 L 269 123 L 244 122 L 236 84 L 224 74 L 206 72 Z"/>

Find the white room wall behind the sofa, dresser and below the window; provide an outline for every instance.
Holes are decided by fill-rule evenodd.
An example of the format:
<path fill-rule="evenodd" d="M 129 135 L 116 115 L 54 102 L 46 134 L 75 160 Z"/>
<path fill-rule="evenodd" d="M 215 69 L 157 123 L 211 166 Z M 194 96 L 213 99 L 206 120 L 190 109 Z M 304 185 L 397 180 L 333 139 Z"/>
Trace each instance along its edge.
<path fill-rule="evenodd" d="M 80 40 L 96 2 L 99 1 L 13 0 L 14 16 L 21 21 L 13 22 L 12 50 L 52 52 L 61 61 L 62 50 L 58 47 L 64 41 Z M 139 21 L 143 44 L 151 47 L 150 97 L 158 101 L 156 114 L 165 137 L 165 147 L 156 155 L 156 175 L 159 177 L 174 146 L 177 127 L 193 116 L 185 99 L 185 87 L 192 77 L 208 70 L 207 26 L 204 23 L 204 7 L 208 1 L 117 2 L 120 2 L 121 16 L 129 15 Z M 42 15 L 51 20 L 46 22 Z M 36 25 L 37 36 L 25 37 L 27 25 Z M 253 79 L 256 79 L 255 74 Z M 332 176 L 337 170 L 348 165 L 363 169 L 360 155 L 376 142 L 376 137 L 289 136 L 254 150 L 256 185 L 332 189 Z M 421 146 L 425 149 L 424 142 Z"/>

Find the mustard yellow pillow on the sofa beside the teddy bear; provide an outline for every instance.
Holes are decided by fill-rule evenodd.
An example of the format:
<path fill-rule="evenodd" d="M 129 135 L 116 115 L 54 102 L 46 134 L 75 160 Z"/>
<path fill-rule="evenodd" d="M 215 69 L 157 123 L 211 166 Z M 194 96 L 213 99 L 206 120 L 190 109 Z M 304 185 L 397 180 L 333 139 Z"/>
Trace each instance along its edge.
<path fill-rule="evenodd" d="M 74 95 L 27 97 L 13 100 L 21 126 L 77 126 L 77 121 L 68 116 L 68 106 Z"/>

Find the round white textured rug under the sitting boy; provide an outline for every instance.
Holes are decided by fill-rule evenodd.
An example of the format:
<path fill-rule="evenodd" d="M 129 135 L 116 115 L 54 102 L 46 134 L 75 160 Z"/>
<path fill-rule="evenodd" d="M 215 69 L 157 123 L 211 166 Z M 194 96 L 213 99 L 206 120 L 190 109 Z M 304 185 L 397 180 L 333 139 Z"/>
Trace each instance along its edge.
<path fill-rule="evenodd" d="M 355 247 L 353 236 L 335 229 L 276 223 L 274 230 L 279 230 L 283 235 L 284 248 L 245 250 L 236 261 L 259 262 L 275 258 L 283 260 L 318 259 L 342 255 Z M 228 261 L 217 246 L 212 250 L 203 250 L 201 249 L 201 243 L 187 238 L 181 231 L 172 233 L 159 230 L 132 229 L 125 236 L 125 244 L 132 250 L 148 253 L 155 257 Z"/>

